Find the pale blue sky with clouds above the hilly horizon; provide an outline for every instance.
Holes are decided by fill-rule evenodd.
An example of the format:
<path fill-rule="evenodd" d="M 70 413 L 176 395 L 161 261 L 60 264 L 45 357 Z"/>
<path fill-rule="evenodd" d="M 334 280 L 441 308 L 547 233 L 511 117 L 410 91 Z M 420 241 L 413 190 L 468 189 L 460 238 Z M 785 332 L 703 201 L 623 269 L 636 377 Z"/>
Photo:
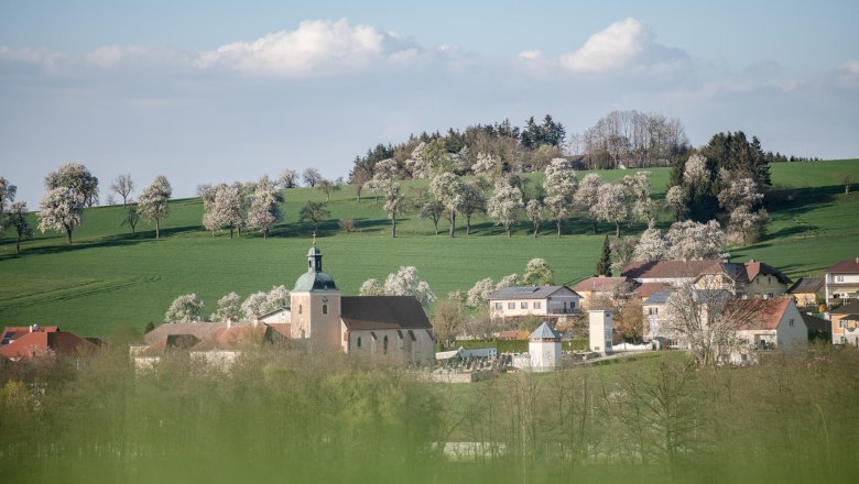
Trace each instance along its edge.
<path fill-rule="evenodd" d="M 283 168 L 346 176 L 410 133 L 548 113 L 679 118 L 859 157 L 853 1 L 0 0 L 0 176 L 37 209 L 85 164 L 175 197 Z"/>

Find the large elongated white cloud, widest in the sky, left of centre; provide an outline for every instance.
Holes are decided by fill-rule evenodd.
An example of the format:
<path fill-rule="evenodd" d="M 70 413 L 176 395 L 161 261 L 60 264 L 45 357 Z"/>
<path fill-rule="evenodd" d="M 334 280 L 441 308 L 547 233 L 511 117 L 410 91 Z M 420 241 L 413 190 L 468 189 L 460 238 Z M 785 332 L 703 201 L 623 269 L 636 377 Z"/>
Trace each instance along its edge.
<path fill-rule="evenodd" d="M 346 19 L 305 21 L 252 42 L 233 42 L 200 54 L 200 68 L 224 68 L 251 75 L 303 77 L 360 70 L 373 63 L 402 63 L 417 55 L 406 36 Z"/>

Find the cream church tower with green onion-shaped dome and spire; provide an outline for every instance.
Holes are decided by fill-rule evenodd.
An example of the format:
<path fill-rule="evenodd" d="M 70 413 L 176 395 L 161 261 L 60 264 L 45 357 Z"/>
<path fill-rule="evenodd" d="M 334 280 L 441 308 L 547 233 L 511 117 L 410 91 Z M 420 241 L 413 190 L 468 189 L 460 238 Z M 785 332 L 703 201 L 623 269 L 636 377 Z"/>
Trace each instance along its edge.
<path fill-rule="evenodd" d="M 315 238 L 307 252 L 307 272 L 290 293 L 290 312 L 293 339 L 307 339 L 314 346 L 340 345 L 340 289 L 323 272 Z"/>

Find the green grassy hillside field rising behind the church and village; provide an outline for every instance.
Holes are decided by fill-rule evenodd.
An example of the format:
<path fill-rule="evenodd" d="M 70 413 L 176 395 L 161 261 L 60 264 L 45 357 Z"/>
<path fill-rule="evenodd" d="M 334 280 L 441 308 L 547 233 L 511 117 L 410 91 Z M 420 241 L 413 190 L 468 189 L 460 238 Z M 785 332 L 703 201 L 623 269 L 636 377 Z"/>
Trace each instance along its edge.
<path fill-rule="evenodd" d="M 752 246 L 731 249 L 735 260 L 758 258 L 800 277 L 819 275 L 833 263 L 859 255 L 859 196 L 844 196 L 835 180 L 844 172 L 859 179 L 859 160 L 779 164 L 771 170 L 770 235 Z M 661 198 L 668 169 L 651 172 L 654 196 Z M 607 180 L 626 174 L 600 172 Z M 532 176 L 529 191 L 541 183 L 541 175 Z M 306 200 L 324 201 L 325 196 L 309 188 L 285 194 L 284 221 L 268 240 L 255 232 L 233 240 L 225 233 L 213 238 L 202 227 L 199 199 L 172 202 L 160 241 L 153 240 L 154 228 L 146 222 L 132 237 L 120 226 L 121 207 L 88 209 L 70 246 L 62 234 L 36 232 L 15 256 L 7 232 L 0 242 L 0 326 L 59 324 L 81 336 L 105 336 L 121 324 L 143 328 L 149 321 L 160 322 L 181 294 L 197 293 L 214 311 L 217 298 L 231 290 L 247 296 L 280 284 L 292 287 L 304 271 L 313 232 L 298 221 L 298 209 Z M 562 238 L 545 222 L 534 239 L 530 223 L 522 221 L 508 239 L 486 217 L 475 217 L 472 233 L 466 237 L 460 217 L 457 238 L 449 239 L 446 221 L 439 222 L 435 235 L 431 221 L 409 215 L 392 239 L 390 221 L 372 194 L 365 193 L 358 202 L 347 186 L 333 195 L 329 208 L 331 217 L 320 227 L 318 245 L 326 271 L 344 294 L 356 294 L 367 278 L 383 279 L 402 265 L 414 265 L 444 297 L 483 277 L 521 273 L 532 257 L 550 263 L 556 283 L 575 283 L 591 275 L 605 233 L 613 233 L 613 226 L 606 224 L 594 235 L 589 222 L 574 217 Z M 354 219 L 358 229 L 342 232 L 340 219 Z M 666 228 L 670 222 L 668 213 L 663 213 L 660 224 Z M 35 227 L 35 217 L 31 223 Z M 622 228 L 627 234 L 641 230 L 642 226 Z"/>

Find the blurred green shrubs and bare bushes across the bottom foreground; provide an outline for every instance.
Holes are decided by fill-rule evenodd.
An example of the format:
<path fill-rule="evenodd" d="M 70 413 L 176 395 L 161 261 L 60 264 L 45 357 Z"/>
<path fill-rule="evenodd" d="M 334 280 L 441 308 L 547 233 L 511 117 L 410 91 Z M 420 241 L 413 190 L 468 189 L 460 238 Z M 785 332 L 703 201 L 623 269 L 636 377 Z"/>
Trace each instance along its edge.
<path fill-rule="evenodd" d="M 124 349 L 0 371 L 8 482 L 856 482 L 859 354 L 698 371 L 684 353 L 425 383 L 390 362 Z M 466 442 L 448 444 L 445 442 Z M 458 450 L 459 453 L 453 450 Z M 607 481 L 608 480 L 608 481 Z"/>

